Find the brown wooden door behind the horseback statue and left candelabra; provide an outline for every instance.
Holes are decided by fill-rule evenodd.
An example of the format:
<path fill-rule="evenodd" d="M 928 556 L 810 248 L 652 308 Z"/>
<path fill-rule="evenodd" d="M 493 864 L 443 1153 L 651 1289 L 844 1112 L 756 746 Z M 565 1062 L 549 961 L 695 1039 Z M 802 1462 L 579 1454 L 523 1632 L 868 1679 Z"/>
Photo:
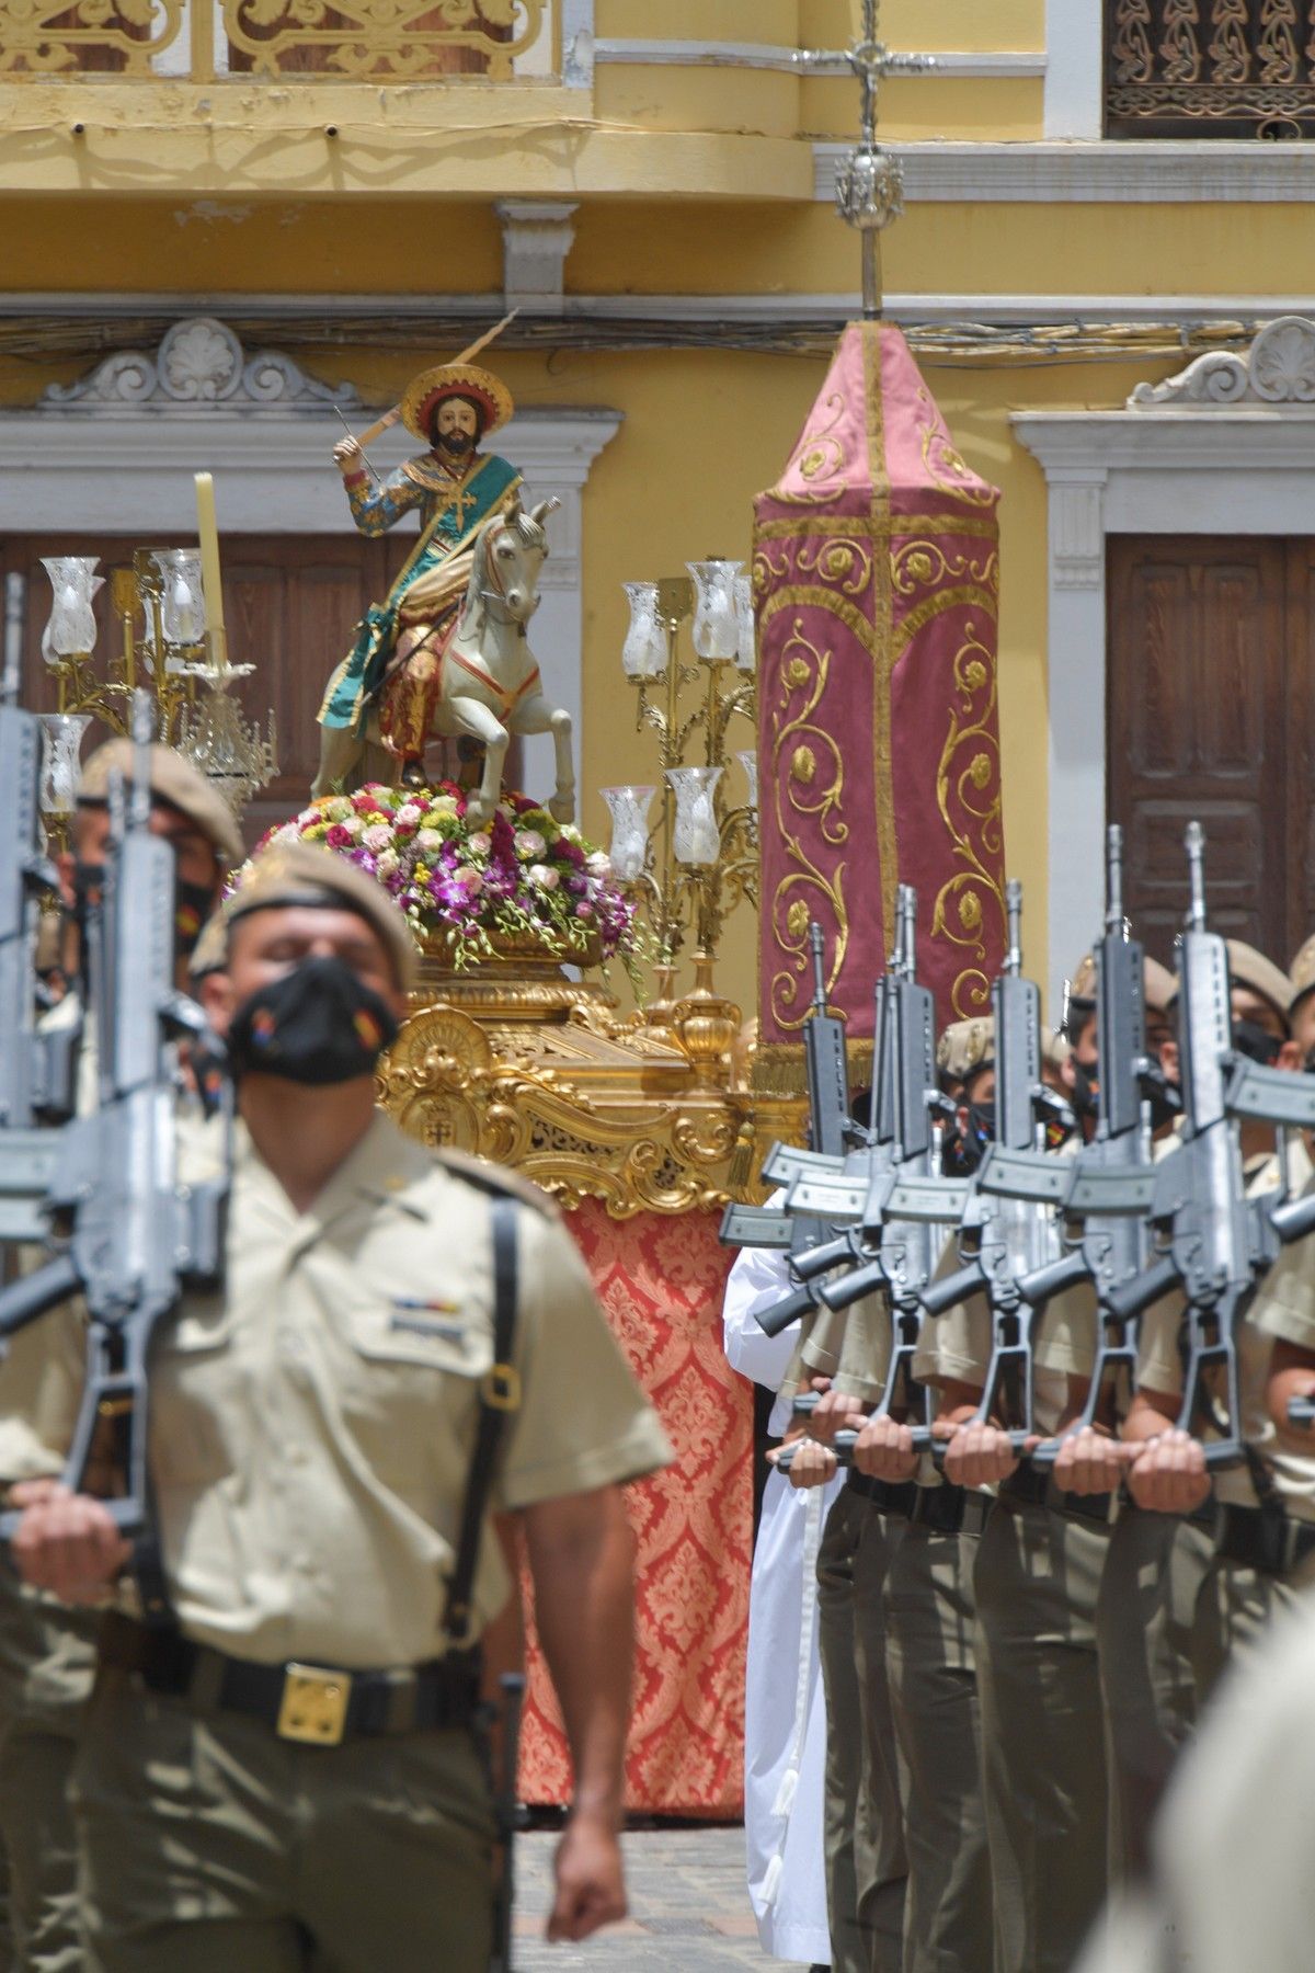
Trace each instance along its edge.
<path fill-rule="evenodd" d="M 158 537 L 150 543 L 162 548 L 183 545 L 187 537 Z M 223 594 L 229 657 L 235 665 L 256 667 L 235 696 L 246 718 L 258 722 L 262 730 L 272 712 L 278 734 L 278 777 L 242 817 L 248 844 L 270 823 L 286 821 L 310 799 L 319 760 L 315 712 L 329 673 L 351 645 L 367 604 L 388 592 L 412 545 L 412 529 L 377 541 L 367 541 L 363 535 L 225 535 Z M 49 616 L 51 594 L 41 556 L 99 554 L 99 574 L 108 576 L 112 568 L 130 566 L 132 548 L 134 543 L 122 537 L 0 537 L 0 576 L 20 570 L 28 580 L 22 691 L 26 706 L 37 712 L 55 706 L 49 673 L 41 663 L 41 629 Z M 97 653 L 104 665 L 120 651 L 108 582 L 97 598 L 97 621 L 101 625 Z M 83 756 L 101 738 L 103 732 L 93 732 Z M 513 742 L 507 756 L 511 785 L 517 785 L 519 764 L 519 744 Z M 453 773 L 455 748 L 440 744 L 430 756 L 430 769 Z"/>

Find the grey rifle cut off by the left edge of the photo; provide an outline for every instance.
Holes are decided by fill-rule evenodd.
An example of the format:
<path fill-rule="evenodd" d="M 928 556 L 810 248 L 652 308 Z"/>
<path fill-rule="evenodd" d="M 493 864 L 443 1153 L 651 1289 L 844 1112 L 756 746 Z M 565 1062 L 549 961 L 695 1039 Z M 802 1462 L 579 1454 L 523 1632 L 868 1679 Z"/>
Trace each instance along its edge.
<path fill-rule="evenodd" d="M 41 829 L 41 720 L 18 706 L 22 576 L 6 578 L 4 679 L 0 681 L 0 1241 L 41 1243 L 39 1202 L 53 1164 L 55 1134 L 41 1125 L 73 1109 L 77 1034 L 45 1036 L 37 1020 L 35 973 L 43 902 L 59 880 Z"/>

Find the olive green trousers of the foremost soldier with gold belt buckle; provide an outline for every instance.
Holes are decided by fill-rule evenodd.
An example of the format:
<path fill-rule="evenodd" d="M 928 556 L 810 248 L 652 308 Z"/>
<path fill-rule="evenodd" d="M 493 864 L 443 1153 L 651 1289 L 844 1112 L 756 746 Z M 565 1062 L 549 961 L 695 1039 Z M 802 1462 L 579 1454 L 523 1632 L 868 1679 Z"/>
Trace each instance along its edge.
<path fill-rule="evenodd" d="M 103 1671 L 73 1811 L 89 1973 L 487 1973 L 469 1732 L 298 1746 Z"/>

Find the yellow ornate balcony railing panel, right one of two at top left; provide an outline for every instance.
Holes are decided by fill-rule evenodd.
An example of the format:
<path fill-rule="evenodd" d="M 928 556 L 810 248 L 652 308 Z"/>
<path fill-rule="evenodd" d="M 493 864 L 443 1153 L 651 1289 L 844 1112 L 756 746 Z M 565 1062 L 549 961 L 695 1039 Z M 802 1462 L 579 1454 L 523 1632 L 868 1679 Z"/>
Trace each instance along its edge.
<path fill-rule="evenodd" d="M 223 0 L 223 22 L 256 75 L 420 79 L 453 73 L 451 57 L 467 51 L 493 81 L 511 81 L 544 10 L 546 0 Z"/>

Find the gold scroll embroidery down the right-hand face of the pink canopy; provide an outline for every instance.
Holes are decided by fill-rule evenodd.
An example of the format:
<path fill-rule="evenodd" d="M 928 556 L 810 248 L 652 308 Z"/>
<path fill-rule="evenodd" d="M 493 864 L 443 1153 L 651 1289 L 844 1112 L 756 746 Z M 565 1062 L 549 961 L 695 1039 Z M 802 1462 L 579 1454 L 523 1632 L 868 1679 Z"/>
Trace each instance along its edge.
<path fill-rule="evenodd" d="M 950 706 L 950 728 L 936 766 L 936 807 L 962 864 L 942 886 L 933 910 L 933 937 L 946 937 L 964 949 L 976 965 L 966 965 L 950 992 L 956 1020 L 984 1014 L 990 1006 L 986 961 L 986 904 L 1004 931 L 1004 896 L 992 876 L 988 858 L 1000 866 L 1004 854 L 1000 748 L 992 730 L 996 714 L 996 661 L 980 639 L 974 621 L 964 627 L 964 643 L 954 653 L 954 685 L 958 704 Z M 994 793 L 982 805 L 980 795 Z M 956 827 L 950 817 L 950 791 L 968 827 Z M 976 827 L 974 827 L 976 825 Z"/>

